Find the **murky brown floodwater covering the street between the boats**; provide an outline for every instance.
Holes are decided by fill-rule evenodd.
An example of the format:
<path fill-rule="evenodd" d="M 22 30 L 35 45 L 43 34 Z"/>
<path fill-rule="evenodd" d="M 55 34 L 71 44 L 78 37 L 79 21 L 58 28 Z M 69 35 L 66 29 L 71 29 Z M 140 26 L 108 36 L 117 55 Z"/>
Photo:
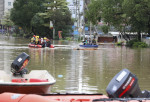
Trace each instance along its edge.
<path fill-rule="evenodd" d="M 137 76 L 141 90 L 150 90 L 150 48 L 105 44 L 98 50 L 74 50 L 75 42 L 55 41 L 54 49 L 29 48 L 28 43 L 27 39 L 0 36 L 0 69 L 10 73 L 13 60 L 26 52 L 29 71 L 48 70 L 55 77 L 52 92 L 106 94 L 108 83 L 123 68 Z"/>

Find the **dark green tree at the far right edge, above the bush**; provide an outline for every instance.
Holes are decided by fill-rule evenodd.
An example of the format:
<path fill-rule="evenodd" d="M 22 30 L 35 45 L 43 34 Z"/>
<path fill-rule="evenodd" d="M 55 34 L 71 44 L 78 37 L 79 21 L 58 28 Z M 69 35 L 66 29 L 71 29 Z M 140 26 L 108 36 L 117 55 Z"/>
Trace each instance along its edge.
<path fill-rule="evenodd" d="M 150 1 L 149 0 L 124 0 L 123 9 L 129 18 L 131 31 L 138 33 L 140 40 L 141 32 L 150 35 Z"/>

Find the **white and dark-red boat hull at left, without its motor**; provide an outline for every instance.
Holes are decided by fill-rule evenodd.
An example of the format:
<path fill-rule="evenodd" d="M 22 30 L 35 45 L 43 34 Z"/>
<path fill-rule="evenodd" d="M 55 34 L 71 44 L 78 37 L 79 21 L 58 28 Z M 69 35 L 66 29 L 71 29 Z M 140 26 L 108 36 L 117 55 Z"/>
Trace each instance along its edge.
<path fill-rule="evenodd" d="M 47 70 L 31 70 L 23 76 L 0 70 L 0 93 L 48 94 L 55 82 Z"/>

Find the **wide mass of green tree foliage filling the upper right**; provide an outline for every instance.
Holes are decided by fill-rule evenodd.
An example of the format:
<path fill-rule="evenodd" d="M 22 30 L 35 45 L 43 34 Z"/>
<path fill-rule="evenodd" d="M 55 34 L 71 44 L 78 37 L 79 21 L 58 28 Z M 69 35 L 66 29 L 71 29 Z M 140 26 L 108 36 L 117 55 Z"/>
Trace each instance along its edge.
<path fill-rule="evenodd" d="M 95 5 L 94 5 L 95 4 Z M 97 8 L 97 10 L 95 10 Z M 150 35 L 150 1 L 149 0 L 94 0 L 89 5 L 87 17 L 95 24 L 101 17 L 108 25 L 120 32 L 145 32 Z M 130 29 L 127 29 L 130 28 Z"/>

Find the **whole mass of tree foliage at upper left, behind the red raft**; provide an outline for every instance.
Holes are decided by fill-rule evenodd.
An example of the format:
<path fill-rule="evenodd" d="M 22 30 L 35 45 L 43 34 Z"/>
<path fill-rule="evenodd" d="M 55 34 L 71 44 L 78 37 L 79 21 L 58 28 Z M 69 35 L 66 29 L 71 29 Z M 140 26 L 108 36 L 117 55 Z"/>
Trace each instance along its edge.
<path fill-rule="evenodd" d="M 55 21 L 56 30 L 69 31 L 71 14 L 65 0 L 16 0 L 11 10 L 11 20 L 26 34 L 37 34 L 52 38 L 49 22 Z M 55 7 L 55 10 L 52 9 Z M 50 9 L 51 8 L 51 9 Z M 31 36 L 31 35 L 30 35 Z"/>

